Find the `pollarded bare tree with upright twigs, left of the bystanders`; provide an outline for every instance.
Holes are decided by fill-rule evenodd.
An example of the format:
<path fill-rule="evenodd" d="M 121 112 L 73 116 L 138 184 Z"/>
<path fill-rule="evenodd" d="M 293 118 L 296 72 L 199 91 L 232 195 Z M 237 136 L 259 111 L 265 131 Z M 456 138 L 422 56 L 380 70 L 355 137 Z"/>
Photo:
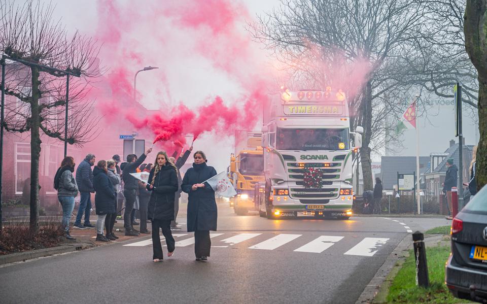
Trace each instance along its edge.
<path fill-rule="evenodd" d="M 90 141 L 96 132 L 90 128 L 98 118 L 84 102 L 88 78 L 97 76 L 93 58 L 96 42 L 75 33 L 71 38 L 53 18 L 53 6 L 39 1 L 24 5 L 10 3 L 2 8 L 0 49 L 9 60 L 6 94 L 17 98 L 6 105 L 4 127 L 11 132 L 30 132 L 30 231 L 39 229 L 39 158 L 41 133 L 69 144 Z M 69 124 L 64 136 L 66 86 L 63 76 L 75 73 L 69 90 Z"/>

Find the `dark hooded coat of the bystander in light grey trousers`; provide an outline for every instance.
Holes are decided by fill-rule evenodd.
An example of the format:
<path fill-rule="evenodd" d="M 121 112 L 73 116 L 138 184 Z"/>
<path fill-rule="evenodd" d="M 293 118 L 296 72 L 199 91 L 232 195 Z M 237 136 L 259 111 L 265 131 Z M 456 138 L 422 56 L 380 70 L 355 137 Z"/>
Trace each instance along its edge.
<path fill-rule="evenodd" d="M 95 166 L 93 169 L 96 214 L 116 213 L 115 190 L 105 171 Z"/>

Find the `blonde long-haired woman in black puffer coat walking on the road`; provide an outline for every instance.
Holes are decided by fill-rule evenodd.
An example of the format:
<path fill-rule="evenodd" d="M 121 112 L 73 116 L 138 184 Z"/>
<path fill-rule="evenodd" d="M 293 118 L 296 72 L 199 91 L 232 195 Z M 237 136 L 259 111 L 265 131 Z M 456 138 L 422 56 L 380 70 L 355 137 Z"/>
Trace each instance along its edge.
<path fill-rule="evenodd" d="M 154 168 L 149 174 L 147 190 L 152 190 L 147 217 L 152 221 L 152 249 L 154 262 L 163 259 L 159 229 L 166 238 L 167 256 L 175 249 L 170 224 L 174 219 L 174 197 L 178 191 L 176 167 L 168 160 L 164 151 L 157 153 Z"/>

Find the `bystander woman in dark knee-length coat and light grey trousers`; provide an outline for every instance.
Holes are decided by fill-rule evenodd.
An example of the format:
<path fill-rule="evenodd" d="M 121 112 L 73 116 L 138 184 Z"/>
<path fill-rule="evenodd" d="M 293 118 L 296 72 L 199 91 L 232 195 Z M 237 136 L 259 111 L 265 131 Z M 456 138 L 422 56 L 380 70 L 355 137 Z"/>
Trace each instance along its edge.
<path fill-rule="evenodd" d="M 108 178 L 107 161 L 100 160 L 93 168 L 93 188 L 95 189 L 95 206 L 98 220 L 96 221 L 96 241 L 110 241 L 103 235 L 103 224 L 109 213 L 115 213 L 115 191 Z"/>

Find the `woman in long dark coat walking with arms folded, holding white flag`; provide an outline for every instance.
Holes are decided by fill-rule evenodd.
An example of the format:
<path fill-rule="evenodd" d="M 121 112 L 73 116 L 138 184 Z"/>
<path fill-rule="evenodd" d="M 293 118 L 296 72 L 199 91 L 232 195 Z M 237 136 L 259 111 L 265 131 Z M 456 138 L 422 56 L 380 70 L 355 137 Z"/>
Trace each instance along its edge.
<path fill-rule="evenodd" d="M 206 156 L 202 151 L 196 151 L 193 157 L 193 167 L 184 175 L 181 188 L 188 193 L 187 225 L 188 232 L 194 231 L 196 260 L 206 261 L 212 246 L 210 230 L 217 230 L 217 203 L 215 191 L 204 181 L 217 175 L 217 172 L 214 167 L 206 165 Z"/>

